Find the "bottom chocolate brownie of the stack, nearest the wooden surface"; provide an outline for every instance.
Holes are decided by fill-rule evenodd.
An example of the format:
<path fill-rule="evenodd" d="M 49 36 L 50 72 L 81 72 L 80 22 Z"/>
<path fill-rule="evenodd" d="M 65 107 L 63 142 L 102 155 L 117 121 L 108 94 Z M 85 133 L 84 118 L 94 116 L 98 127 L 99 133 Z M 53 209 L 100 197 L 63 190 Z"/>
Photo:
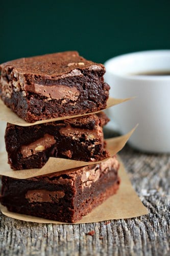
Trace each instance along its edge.
<path fill-rule="evenodd" d="M 114 156 L 100 164 L 24 180 L 3 176 L 0 201 L 19 214 L 77 222 L 116 193 L 118 168 Z"/>

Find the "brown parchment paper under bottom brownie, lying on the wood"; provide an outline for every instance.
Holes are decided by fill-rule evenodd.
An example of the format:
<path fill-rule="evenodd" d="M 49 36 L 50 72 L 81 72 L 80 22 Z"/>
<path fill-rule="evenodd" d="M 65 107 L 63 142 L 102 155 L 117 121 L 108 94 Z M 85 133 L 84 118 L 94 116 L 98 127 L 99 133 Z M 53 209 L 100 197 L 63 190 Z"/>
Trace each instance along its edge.
<path fill-rule="evenodd" d="M 134 191 L 128 175 L 125 171 L 125 167 L 121 161 L 119 168 L 119 177 L 121 179 L 121 183 L 116 195 L 113 195 L 112 197 L 107 199 L 102 205 L 96 207 L 92 212 L 90 212 L 90 214 L 84 216 L 81 221 L 74 224 L 128 219 L 148 214 L 147 208 L 143 206 L 136 192 Z M 4 215 L 17 220 L 37 223 L 62 223 L 33 216 L 16 214 L 14 212 L 8 211 L 7 208 L 1 204 L 0 209 Z"/>

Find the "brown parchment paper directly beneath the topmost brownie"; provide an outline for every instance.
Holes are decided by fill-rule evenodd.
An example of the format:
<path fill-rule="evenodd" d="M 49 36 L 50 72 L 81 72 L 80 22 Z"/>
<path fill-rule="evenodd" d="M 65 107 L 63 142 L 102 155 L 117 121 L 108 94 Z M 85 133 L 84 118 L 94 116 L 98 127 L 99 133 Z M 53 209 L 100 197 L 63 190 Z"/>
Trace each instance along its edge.
<path fill-rule="evenodd" d="M 111 108 L 111 106 L 114 106 L 114 105 L 123 103 L 125 101 L 128 101 L 132 98 L 115 99 L 115 98 L 109 97 L 109 99 L 107 101 L 107 108 L 106 109 Z M 5 121 L 5 122 L 8 122 L 8 123 L 12 123 L 12 124 L 20 125 L 20 126 L 31 126 L 31 125 L 40 124 L 40 123 L 59 121 L 59 120 L 68 119 L 68 118 L 74 118 L 74 117 L 79 117 L 79 116 L 95 114 L 95 113 L 99 113 L 103 110 L 106 110 L 106 109 L 103 109 L 103 110 L 100 110 L 100 111 L 96 111 L 96 112 L 92 112 L 92 113 L 86 113 L 86 114 L 82 114 L 82 115 L 58 117 L 58 118 L 53 118 L 53 119 L 46 119 L 46 120 L 42 120 L 42 121 L 36 121 L 34 123 L 28 123 L 25 120 L 22 120 L 20 117 L 18 117 L 14 112 L 12 112 L 4 104 L 4 102 L 2 100 L 0 100 L 0 109 L 1 109 L 1 111 L 0 111 L 0 121 Z"/>

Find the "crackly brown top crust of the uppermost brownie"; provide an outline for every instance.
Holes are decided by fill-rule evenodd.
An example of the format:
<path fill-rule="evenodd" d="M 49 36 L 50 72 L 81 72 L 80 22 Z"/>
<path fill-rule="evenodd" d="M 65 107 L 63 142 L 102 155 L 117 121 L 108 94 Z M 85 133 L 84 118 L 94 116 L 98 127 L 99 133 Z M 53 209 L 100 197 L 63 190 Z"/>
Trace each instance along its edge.
<path fill-rule="evenodd" d="M 14 69 L 19 74 L 46 75 L 52 78 L 64 78 L 65 74 L 79 75 L 80 70 L 83 69 L 105 73 L 105 67 L 102 64 L 86 60 L 76 51 L 11 60 L 0 66 L 0 70 L 4 68 Z"/>

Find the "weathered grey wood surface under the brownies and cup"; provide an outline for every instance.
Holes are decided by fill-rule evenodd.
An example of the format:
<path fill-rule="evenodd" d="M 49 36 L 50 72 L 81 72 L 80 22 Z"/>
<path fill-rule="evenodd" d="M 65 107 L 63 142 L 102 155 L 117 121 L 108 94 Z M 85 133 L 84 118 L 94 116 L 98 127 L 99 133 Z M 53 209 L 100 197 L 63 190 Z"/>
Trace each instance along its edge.
<path fill-rule="evenodd" d="M 91 224 L 53 225 L 0 215 L 0 255 L 170 255 L 170 155 L 126 146 L 120 157 L 149 215 Z M 93 236 L 89 231 L 95 231 Z"/>

